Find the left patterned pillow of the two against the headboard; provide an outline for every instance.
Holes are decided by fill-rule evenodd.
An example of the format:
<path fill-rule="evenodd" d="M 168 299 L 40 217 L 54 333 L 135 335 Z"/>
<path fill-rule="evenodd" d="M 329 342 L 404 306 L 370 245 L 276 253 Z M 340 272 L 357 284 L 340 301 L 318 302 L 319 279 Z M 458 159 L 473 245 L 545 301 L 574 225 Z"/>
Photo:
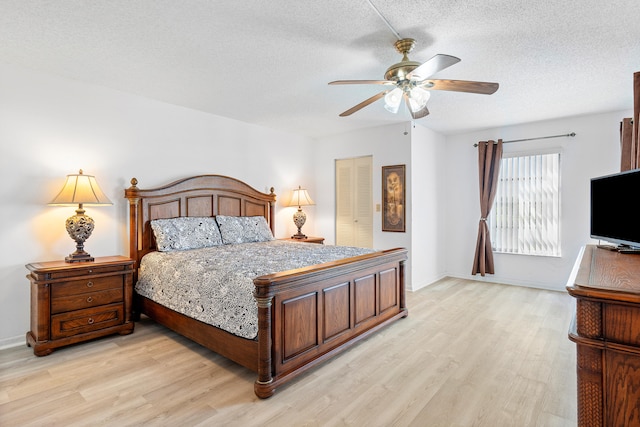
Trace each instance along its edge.
<path fill-rule="evenodd" d="M 200 249 L 222 244 L 218 223 L 213 217 L 154 219 L 151 229 L 160 252 Z"/>

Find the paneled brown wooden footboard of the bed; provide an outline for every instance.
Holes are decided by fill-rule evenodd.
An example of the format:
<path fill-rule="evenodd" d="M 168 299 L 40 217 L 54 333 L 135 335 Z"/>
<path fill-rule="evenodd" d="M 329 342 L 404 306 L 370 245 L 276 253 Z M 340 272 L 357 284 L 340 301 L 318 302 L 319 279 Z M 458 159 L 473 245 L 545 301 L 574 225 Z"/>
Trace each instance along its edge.
<path fill-rule="evenodd" d="M 393 249 L 254 280 L 258 379 L 267 398 L 281 384 L 408 315 L 406 249 Z"/>

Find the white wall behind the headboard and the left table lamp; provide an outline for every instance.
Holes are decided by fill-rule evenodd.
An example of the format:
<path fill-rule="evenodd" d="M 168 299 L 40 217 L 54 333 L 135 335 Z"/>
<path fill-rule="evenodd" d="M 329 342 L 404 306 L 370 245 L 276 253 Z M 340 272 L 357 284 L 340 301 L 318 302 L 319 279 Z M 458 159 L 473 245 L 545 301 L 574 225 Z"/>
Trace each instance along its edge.
<path fill-rule="evenodd" d="M 29 330 L 25 264 L 63 259 L 75 244 L 71 208 L 47 203 L 65 176 L 95 175 L 113 206 L 87 208 L 93 256 L 128 254 L 124 189 L 152 188 L 197 174 L 241 179 L 279 199 L 315 188 L 313 141 L 0 63 L 0 347 Z M 276 207 L 276 235 L 295 232 L 294 208 Z M 313 229 L 313 218 L 309 219 Z"/>

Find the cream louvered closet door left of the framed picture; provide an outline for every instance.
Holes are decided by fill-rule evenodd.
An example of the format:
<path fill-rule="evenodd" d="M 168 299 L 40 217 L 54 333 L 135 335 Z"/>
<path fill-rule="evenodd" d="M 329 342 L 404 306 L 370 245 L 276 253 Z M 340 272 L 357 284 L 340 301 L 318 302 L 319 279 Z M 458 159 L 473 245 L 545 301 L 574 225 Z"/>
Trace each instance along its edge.
<path fill-rule="evenodd" d="M 373 247 L 371 156 L 336 160 L 336 244 Z"/>

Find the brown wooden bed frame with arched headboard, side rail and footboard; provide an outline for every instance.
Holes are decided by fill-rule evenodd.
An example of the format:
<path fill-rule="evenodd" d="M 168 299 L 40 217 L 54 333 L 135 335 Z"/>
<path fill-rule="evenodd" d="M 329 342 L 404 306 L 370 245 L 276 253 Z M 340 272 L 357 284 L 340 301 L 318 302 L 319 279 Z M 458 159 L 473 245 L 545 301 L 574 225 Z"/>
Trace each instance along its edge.
<path fill-rule="evenodd" d="M 142 190 L 133 178 L 129 199 L 130 257 L 137 267 L 155 250 L 150 221 L 179 216 L 257 216 L 274 231 L 276 196 L 242 181 L 200 175 Z M 274 233 L 275 235 L 275 233 Z M 398 248 L 258 277 L 258 336 L 240 338 L 140 295 L 134 310 L 258 374 L 260 398 L 311 367 L 408 314 L 404 265 Z"/>

